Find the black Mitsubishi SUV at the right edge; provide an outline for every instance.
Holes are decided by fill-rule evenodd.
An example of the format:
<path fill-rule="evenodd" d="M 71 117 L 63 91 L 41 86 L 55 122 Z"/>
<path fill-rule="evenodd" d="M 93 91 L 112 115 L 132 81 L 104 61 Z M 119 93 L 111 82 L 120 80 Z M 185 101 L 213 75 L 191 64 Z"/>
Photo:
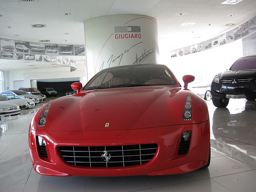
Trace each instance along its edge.
<path fill-rule="evenodd" d="M 256 55 L 239 58 L 224 73 L 215 75 L 212 85 L 212 103 L 225 108 L 229 99 L 256 99 Z"/>

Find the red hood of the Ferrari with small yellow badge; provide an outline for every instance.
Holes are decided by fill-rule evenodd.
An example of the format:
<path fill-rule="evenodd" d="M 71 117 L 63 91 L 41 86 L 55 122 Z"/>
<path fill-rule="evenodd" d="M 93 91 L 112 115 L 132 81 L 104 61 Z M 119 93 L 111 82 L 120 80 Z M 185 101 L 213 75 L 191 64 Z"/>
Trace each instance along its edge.
<path fill-rule="evenodd" d="M 187 95 L 192 96 L 192 121 L 183 121 Z M 198 103 L 195 105 L 195 103 Z M 34 119 L 37 125 L 38 115 Z M 193 112 L 192 112 L 193 113 Z M 205 102 L 189 90 L 168 86 L 124 87 L 82 91 L 55 99 L 47 123 L 37 129 L 59 131 L 106 131 L 163 127 L 209 120 Z M 106 124 L 109 123 L 109 126 Z"/>

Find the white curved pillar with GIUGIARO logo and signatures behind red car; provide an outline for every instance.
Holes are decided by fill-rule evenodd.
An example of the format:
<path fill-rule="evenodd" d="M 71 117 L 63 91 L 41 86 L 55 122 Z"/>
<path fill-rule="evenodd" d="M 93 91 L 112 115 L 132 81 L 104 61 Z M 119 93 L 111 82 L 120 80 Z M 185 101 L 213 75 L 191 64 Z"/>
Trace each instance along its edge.
<path fill-rule="evenodd" d="M 157 20 L 145 15 L 109 15 L 84 21 L 87 74 L 108 67 L 157 64 Z"/>

